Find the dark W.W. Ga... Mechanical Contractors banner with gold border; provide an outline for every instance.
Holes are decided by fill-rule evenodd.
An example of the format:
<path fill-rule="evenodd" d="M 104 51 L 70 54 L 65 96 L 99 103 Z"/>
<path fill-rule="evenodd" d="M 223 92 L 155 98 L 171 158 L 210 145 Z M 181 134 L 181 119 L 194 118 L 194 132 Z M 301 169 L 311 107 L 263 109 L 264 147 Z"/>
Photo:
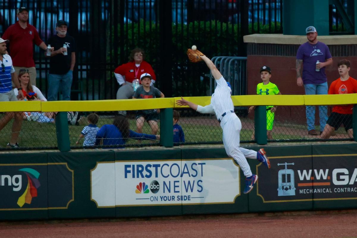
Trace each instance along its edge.
<path fill-rule="evenodd" d="M 265 179 L 257 194 L 264 203 L 357 199 L 356 161 L 356 155 L 275 157 L 270 171 L 258 169 Z"/>

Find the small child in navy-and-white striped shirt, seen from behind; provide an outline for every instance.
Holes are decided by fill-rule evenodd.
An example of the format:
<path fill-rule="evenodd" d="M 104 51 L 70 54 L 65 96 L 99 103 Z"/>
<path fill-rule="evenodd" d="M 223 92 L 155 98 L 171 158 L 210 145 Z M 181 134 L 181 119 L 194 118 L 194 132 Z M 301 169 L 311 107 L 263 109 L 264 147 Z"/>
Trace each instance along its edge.
<path fill-rule="evenodd" d="M 88 126 L 85 126 L 79 135 L 79 138 L 76 142 L 76 145 L 79 144 L 79 140 L 84 137 L 83 146 L 94 146 L 95 138 L 97 136 L 97 132 L 99 131 L 99 127 L 97 127 L 97 122 L 99 120 L 99 116 L 96 113 L 90 113 L 87 116 Z"/>

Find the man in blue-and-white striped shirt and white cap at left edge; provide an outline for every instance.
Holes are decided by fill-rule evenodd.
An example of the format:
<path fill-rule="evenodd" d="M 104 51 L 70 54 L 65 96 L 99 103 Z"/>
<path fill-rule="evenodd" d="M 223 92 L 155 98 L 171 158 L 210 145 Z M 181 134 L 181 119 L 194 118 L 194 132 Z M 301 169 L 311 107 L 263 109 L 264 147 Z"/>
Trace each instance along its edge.
<path fill-rule="evenodd" d="M 11 81 L 14 83 L 17 90 L 19 90 L 19 99 L 23 99 L 22 88 L 20 87 L 19 80 L 15 74 L 15 69 L 12 66 L 12 60 L 10 55 L 6 54 L 6 43 L 9 40 L 0 38 L 0 102 L 17 101 L 14 90 L 12 90 Z M 0 130 L 4 128 L 9 121 L 15 118 L 11 128 L 11 139 L 7 143 L 7 147 L 18 148 L 17 137 L 19 137 L 21 125 L 22 125 L 22 112 L 6 112 L 0 119 Z"/>

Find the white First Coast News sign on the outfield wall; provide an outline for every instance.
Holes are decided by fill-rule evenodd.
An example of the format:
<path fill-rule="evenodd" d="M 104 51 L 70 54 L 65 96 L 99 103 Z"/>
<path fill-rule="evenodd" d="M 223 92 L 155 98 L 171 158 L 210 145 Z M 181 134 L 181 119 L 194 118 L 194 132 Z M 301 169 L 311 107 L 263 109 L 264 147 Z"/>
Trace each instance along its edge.
<path fill-rule="evenodd" d="M 99 162 L 91 171 L 98 207 L 234 203 L 240 168 L 233 159 Z"/>

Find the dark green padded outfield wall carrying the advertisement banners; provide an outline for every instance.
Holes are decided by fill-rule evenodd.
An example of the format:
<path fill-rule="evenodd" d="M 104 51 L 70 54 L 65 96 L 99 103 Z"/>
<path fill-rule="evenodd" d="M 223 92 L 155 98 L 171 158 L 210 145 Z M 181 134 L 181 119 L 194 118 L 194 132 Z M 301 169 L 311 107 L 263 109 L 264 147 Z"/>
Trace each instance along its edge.
<path fill-rule="evenodd" d="M 249 194 L 223 147 L 1 153 L 0 220 L 357 208 L 357 143 L 265 149 Z"/>

